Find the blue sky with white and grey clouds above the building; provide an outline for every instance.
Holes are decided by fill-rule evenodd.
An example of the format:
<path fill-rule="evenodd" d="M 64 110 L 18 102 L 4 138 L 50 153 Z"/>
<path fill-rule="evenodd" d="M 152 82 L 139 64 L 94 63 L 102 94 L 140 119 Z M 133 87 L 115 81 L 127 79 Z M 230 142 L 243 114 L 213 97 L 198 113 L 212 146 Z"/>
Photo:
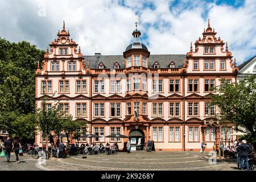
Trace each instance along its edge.
<path fill-rule="evenodd" d="M 63 20 L 84 55 L 122 55 L 134 15 L 151 54 L 185 54 L 207 19 L 238 63 L 256 55 L 256 0 L 0 0 L 0 37 L 46 50 Z M 2 26 L 4 25 L 4 26 Z"/>

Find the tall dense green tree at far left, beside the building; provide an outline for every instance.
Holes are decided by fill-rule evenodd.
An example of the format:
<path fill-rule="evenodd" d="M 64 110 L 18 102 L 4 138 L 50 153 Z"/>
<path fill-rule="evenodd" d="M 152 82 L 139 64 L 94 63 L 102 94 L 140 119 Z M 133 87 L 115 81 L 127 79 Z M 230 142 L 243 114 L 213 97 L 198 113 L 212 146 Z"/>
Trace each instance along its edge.
<path fill-rule="evenodd" d="M 44 53 L 28 42 L 0 38 L 0 130 L 10 136 L 33 138 L 26 134 L 34 134 L 35 70 Z M 26 127 L 21 127 L 26 120 Z"/>

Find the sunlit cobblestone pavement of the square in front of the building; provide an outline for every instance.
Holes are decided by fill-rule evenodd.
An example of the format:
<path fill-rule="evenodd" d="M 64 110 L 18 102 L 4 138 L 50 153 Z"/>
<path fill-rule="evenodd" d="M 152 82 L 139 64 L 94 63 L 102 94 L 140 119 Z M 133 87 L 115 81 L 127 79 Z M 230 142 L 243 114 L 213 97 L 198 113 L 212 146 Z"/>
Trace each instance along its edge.
<path fill-rule="evenodd" d="M 196 170 L 196 171 L 234 171 L 238 170 L 235 159 L 216 159 L 212 164 L 208 153 L 199 152 L 119 152 L 117 155 L 83 155 L 66 159 L 52 158 L 46 164 L 30 155 L 20 156 L 20 163 L 11 155 L 11 163 L 5 157 L 0 158 L 0 170 Z"/>

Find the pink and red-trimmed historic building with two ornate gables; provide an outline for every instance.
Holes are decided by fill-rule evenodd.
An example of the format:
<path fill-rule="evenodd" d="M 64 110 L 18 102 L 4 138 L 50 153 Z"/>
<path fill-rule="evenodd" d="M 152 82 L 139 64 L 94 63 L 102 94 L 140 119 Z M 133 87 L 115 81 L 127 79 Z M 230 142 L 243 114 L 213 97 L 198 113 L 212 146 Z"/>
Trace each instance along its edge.
<path fill-rule="evenodd" d="M 137 146 L 154 140 L 156 151 L 200 150 L 203 141 L 212 150 L 220 138 L 232 142 L 228 134 L 233 127 L 220 130 L 210 96 L 220 79 L 236 82 L 238 68 L 228 43 L 216 37 L 209 20 L 203 37 L 195 47 L 191 42 L 185 55 L 150 55 L 137 26 L 132 35 L 134 42 L 123 55 L 84 56 L 63 24 L 47 48 L 42 69 L 36 70 L 36 106 L 41 107 L 46 93 L 48 109 L 60 101 L 74 119 L 88 121 L 82 135 L 100 136 L 92 139 L 96 143 L 118 142 L 121 150 L 127 139 L 105 136 L 127 135 Z M 38 132 L 36 142 L 45 139 Z"/>

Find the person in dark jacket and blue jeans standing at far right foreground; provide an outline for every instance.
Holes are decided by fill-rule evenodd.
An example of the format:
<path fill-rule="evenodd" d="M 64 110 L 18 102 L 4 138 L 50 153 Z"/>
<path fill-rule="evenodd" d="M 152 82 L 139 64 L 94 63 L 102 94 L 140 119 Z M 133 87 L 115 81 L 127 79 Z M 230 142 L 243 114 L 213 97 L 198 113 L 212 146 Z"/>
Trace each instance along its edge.
<path fill-rule="evenodd" d="M 243 165 L 245 163 L 246 165 L 246 170 L 249 171 L 249 163 L 248 163 L 248 156 L 251 153 L 251 148 L 248 144 L 246 144 L 246 140 L 242 140 L 242 144 L 237 147 L 239 151 L 239 155 L 241 158 L 241 170 L 243 170 Z"/>

